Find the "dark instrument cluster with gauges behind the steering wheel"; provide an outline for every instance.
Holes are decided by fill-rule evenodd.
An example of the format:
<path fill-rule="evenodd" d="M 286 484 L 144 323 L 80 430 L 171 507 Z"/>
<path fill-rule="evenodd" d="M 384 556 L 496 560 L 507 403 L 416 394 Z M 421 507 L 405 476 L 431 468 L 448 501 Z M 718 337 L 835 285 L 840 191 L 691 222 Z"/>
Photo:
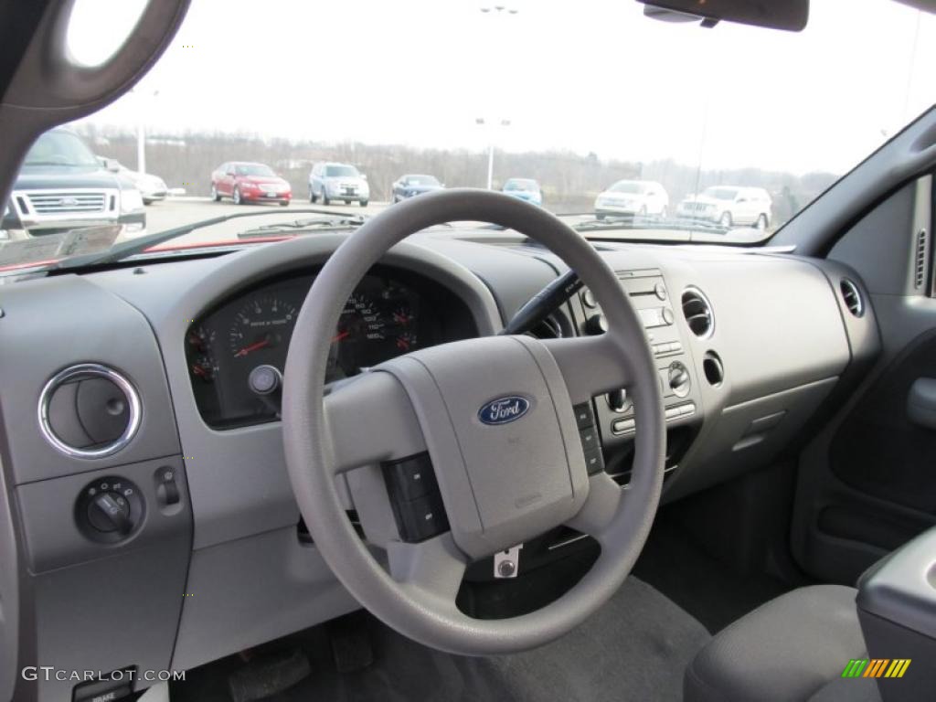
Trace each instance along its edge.
<path fill-rule="evenodd" d="M 255 285 L 198 317 L 187 330 L 192 390 L 210 427 L 230 429 L 279 416 L 276 388 L 282 383 L 296 317 L 313 282 L 310 274 Z M 468 308 L 444 286 L 409 271 L 378 267 L 344 305 L 326 381 L 475 334 Z"/>

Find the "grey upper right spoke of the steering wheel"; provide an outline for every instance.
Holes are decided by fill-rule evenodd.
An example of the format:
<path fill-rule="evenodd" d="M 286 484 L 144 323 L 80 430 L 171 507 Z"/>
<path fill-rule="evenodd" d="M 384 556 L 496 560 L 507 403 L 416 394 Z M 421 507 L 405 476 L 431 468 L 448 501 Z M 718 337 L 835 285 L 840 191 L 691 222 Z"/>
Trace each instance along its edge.
<path fill-rule="evenodd" d="M 573 404 L 633 385 L 627 358 L 610 334 L 547 339 L 543 344 L 556 359 Z"/>

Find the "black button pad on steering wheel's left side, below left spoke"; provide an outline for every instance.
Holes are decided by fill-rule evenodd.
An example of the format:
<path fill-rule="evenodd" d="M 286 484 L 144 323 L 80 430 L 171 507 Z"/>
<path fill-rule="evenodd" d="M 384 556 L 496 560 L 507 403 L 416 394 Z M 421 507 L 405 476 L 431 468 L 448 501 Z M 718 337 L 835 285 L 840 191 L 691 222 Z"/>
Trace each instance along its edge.
<path fill-rule="evenodd" d="M 400 538 L 425 541 L 448 530 L 432 462 L 428 453 L 383 463 L 384 480 Z"/>

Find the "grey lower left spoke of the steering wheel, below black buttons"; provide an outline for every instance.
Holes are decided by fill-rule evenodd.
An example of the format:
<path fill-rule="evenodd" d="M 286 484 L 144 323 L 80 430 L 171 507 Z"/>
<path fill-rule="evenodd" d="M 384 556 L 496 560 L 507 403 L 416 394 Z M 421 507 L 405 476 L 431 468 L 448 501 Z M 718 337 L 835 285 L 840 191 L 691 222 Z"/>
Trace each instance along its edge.
<path fill-rule="evenodd" d="M 406 588 L 415 588 L 455 607 L 467 561 L 452 534 L 439 534 L 427 541 L 407 544 L 391 541 L 387 556 L 390 576 Z"/>

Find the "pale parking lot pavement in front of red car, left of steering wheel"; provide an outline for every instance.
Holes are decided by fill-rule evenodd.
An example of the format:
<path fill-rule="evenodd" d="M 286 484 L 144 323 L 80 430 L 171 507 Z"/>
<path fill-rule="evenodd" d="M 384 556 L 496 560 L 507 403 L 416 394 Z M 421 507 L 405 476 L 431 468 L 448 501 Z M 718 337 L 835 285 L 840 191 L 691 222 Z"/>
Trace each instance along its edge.
<path fill-rule="evenodd" d="M 371 202 L 367 207 L 357 205 L 329 205 L 321 203 L 311 204 L 307 199 L 296 199 L 289 207 L 280 207 L 276 203 L 258 203 L 256 205 L 235 205 L 224 199 L 214 202 L 209 197 L 170 197 L 162 202 L 155 202 L 146 208 L 146 228 L 150 233 L 165 231 L 175 227 L 183 227 L 195 222 L 221 217 L 227 214 L 240 214 L 244 212 L 267 212 L 269 216 L 237 218 L 212 227 L 193 231 L 175 240 L 175 243 L 202 243 L 205 241 L 225 241 L 236 239 L 239 232 L 244 229 L 261 227 L 272 222 L 283 222 L 291 211 L 305 209 L 334 212 L 335 214 L 374 214 L 388 206 L 386 202 Z M 297 214 L 297 218 L 300 215 Z"/>

